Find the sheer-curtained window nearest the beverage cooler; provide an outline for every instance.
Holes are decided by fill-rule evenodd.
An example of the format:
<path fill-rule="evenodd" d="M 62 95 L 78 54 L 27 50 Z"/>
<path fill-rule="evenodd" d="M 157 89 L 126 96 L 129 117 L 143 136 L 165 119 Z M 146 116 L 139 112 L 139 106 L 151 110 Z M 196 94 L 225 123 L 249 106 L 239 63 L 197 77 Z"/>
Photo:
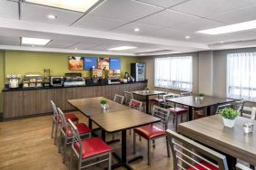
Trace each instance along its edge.
<path fill-rule="evenodd" d="M 173 90 L 192 90 L 192 56 L 156 58 L 154 86 Z"/>

